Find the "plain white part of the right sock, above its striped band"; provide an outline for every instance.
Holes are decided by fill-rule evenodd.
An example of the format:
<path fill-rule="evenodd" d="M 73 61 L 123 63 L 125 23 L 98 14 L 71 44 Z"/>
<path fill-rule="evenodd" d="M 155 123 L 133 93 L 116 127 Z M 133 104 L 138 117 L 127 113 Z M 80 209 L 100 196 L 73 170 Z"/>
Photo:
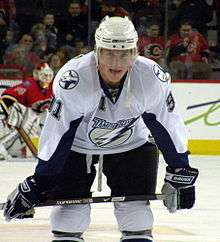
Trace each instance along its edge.
<path fill-rule="evenodd" d="M 115 216 L 120 231 L 151 230 L 153 214 L 146 201 L 116 202 Z"/>

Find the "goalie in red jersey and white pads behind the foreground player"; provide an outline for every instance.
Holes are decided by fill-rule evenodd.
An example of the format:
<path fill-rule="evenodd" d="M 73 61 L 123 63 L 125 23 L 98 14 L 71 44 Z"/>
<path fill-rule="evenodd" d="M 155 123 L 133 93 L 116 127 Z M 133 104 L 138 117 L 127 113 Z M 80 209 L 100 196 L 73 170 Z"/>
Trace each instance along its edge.
<path fill-rule="evenodd" d="M 10 155 L 19 156 L 21 142 L 13 127 L 22 127 L 30 136 L 39 135 L 39 122 L 48 109 L 52 97 L 53 71 L 47 63 L 38 64 L 33 71 L 33 78 L 6 89 L 0 97 L 0 119 L 12 128 L 0 139 L 2 159 Z M 9 156 L 8 156 L 9 153 Z"/>

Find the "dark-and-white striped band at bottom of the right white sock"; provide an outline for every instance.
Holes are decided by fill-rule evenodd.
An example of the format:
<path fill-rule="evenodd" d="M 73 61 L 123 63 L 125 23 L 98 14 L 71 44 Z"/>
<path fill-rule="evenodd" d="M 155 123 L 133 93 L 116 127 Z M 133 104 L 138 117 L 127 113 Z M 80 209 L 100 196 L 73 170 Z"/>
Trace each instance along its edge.
<path fill-rule="evenodd" d="M 121 242 L 153 242 L 152 230 L 123 231 Z"/>

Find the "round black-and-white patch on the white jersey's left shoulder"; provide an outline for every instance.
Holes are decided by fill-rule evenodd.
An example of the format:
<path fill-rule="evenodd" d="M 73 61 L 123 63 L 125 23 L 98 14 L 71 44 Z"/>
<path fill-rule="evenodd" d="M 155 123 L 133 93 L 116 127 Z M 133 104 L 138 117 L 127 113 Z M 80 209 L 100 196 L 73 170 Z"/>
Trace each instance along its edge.
<path fill-rule="evenodd" d="M 63 89 L 70 90 L 79 83 L 79 74 L 74 70 L 66 71 L 59 80 L 59 86 Z"/>

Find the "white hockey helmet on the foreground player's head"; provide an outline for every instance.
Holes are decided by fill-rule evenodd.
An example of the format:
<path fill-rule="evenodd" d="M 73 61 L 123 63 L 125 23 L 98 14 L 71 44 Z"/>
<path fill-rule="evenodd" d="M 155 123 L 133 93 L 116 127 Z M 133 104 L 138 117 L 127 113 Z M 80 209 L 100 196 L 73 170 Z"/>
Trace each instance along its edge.
<path fill-rule="evenodd" d="M 137 50 L 137 41 L 137 31 L 127 16 L 106 16 L 95 32 L 96 49 Z"/>

